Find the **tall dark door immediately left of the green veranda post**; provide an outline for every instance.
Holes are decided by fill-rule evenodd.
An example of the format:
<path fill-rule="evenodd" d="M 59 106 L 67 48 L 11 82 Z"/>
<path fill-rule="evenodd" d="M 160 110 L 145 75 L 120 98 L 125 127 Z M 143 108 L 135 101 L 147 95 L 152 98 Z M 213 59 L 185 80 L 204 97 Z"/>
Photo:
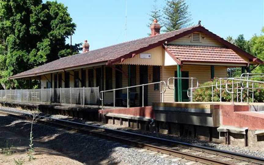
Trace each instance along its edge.
<path fill-rule="evenodd" d="M 116 65 L 116 89 L 122 88 L 122 65 Z M 116 91 L 116 106 L 122 106 L 122 90 Z"/>

